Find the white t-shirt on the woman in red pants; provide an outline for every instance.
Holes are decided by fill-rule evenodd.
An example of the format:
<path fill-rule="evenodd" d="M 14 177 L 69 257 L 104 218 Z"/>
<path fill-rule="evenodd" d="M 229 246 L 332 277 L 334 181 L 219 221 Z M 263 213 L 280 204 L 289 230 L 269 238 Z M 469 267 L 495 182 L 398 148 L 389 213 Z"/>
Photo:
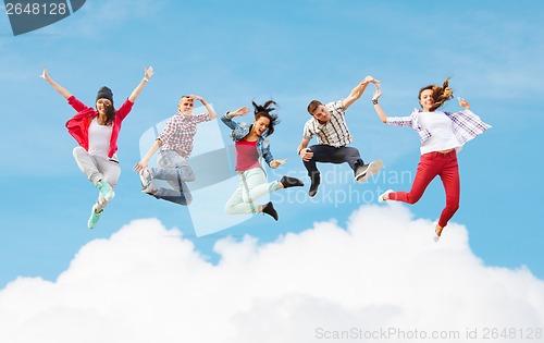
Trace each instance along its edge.
<path fill-rule="evenodd" d="M 452 120 L 444 112 L 421 112 L 419 123 L 422 128 L 431 133 L 431 137 L 421 146 L 421 155 L 461 146 L 454 134 Z"/>

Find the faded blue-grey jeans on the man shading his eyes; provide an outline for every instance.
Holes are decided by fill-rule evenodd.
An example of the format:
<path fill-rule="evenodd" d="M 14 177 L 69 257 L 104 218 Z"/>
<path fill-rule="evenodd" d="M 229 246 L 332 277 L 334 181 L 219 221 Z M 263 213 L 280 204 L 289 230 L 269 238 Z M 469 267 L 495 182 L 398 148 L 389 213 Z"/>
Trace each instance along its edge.
<path fill-rule="evenodd" d="M 193 196 L 186 182 L 195 181 L 195 173 L 187 160 L 174 150 L 163 150 L 157 158 L 157 168 L 151 168 L 151 179 L 164 180 L 172 188 L 158 187 L 152 195 L 158 199 L 180 205 L 190 205 Z"/>

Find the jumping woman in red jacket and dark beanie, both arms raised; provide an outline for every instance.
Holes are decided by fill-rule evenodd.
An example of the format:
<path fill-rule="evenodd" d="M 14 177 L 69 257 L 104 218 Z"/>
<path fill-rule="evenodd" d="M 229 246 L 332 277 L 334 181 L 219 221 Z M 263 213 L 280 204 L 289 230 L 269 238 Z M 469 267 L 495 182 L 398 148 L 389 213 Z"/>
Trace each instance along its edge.
<path fill-rule="evenodd" d="M 115 155 L 118 137 L 123 120 L 128 115 L 141 89 L 153 75 L 153 68 L 144 68 L 144 78 L 132 95 L 118 109 L 113 107 L 113 93 L 108 87 L 101 87 L 96 98 L 96 110 L 84 105 L 69 90 L 54 82 L 44 68 L 45 78 L 77 113 L 66 122 L 69 133 L 77 140 L 74 158 L 77 166 L 98 188 L 97 203 L 92 206 L 87 222 L 89 229 L 95 229 L 106 205 L 113 199 L 113 189 L 118 184 L 121 167 Z"/>

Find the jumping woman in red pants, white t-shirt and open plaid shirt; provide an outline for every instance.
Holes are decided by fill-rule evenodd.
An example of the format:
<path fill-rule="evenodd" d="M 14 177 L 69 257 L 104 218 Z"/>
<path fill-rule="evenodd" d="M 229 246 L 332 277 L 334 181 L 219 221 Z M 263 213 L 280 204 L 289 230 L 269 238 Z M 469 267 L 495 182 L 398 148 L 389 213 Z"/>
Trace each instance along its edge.
<path fill-rule="evenodd" d="M 455 113 L 437 111 L 444 102 L 454 97 L 448 78 L 442 86 L 429 85 L 421 88 L 419 103 L 422 110 L 416 109 L 408 117 L 387 117 L 378 102 L 381 96 L 382 90 L 376 86 L 372 102 L 378 115 L 386 124 L 411 126 L 416 130 L 421 140 L 421 157 L 410 192 L 388 189 L 380 195 L 378 200 L 416 204 L 431 181 L 440 175 L 446 191 L 446 207 L 434 229 L 434 240 L 437 242 L 443 229 L 459 208 L 460 182 L 457 152 L 465 143 L 481 135 L 491 126 L 472 113 L 470 103 L 462 98 L 458 99 L 459 105 L 465 108 L 463 111 Z"/>

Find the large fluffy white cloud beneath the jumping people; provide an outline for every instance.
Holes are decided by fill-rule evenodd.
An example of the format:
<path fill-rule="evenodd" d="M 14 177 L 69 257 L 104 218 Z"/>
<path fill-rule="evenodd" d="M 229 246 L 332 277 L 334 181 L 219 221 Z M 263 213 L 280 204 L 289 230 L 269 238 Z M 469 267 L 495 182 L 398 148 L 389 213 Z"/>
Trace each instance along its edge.
<path fill-rule="evenodd" d="M 467 329 L 481 341 L 485 328 L 527 342 L 520 334 L 543 329 L 542 280 L 523 267 L 485 266 L 462 225 L 452 223 L 438 244 L 432 230 L 404 206 L 363 206 L 347 230 L 320 222 L 269 244 L 223 238 L 214 266 L 172 237 L 177 230 L 136 220 L 85 245 L 54 282 L 8 284 L 0 342 L 298 343 L 385 333 L 381 342 L 401 342 L 433 331 L 459 334 L 440 342 L 474 342 Z"/>

